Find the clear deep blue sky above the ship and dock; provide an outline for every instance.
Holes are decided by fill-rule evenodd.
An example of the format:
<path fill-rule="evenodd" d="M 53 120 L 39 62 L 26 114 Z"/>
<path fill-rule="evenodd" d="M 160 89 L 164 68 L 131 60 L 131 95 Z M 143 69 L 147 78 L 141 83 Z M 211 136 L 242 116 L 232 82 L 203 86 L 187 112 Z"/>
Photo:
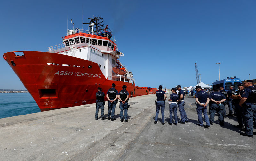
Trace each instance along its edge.
<path fill-rule="evenodd" d="M 97 2 L 97 3 L 95 3 Z M 1 54 L 47 51 L 68 28 L 93 15 L 113 31 L 120 61 L 137 86 L 195 86 L 195 64 L 205 84 L 236 76 L 256 79 L 256 1 L 4 1 L 0 6 Z M 84 25 L 86 27 L 86 25 Z M 0 59 L 0 89 L 25 89 Z"/>

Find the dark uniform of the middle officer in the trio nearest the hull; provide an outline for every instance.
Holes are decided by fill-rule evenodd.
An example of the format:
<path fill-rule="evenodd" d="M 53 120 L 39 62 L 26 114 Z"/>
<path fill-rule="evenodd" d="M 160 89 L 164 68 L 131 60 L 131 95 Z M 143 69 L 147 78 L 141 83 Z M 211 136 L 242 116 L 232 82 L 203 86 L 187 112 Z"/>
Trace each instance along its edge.
<path fill-rule="evenodd" d="M 116 98 L 116 95 L 118 95 L 118 91 L 115 88 L 108 89 L 108 97 L 110 100 L 114 100 Z M 108 101 L 108 117 L 111 115 L 111 119 L 115 118 L 115 109 L 116 109 L 116 101 L 113 101 L 112 103 Z"/>

